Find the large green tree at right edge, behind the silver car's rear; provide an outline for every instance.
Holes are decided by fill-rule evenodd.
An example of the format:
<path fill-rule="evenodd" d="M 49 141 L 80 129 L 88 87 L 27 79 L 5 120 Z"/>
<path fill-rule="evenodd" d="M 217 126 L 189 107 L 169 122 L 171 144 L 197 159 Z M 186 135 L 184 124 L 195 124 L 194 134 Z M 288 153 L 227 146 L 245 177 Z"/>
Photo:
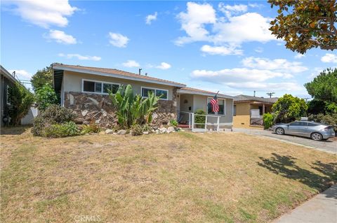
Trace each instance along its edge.
<path fill-rule="evenodd" d="M 316 110 L 318 106 L 323 109 L 323 111 L 313 111 L 310 106 L 310 113 L 337 113 L 337 69 L 322 71 L 312 82 L 308 82 L 304 86 L 314 98 L 310 104 L 312 103 Z M 315 106 L 314 103 L 317 105 Z"/>

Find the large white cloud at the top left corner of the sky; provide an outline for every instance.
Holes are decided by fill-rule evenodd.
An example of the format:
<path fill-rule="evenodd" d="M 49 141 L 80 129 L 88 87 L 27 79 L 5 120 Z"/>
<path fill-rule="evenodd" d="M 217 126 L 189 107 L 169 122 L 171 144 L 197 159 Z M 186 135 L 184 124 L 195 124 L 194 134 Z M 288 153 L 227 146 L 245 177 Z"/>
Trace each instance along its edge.
<path fill-rule="evenodd" d="M 76 7 L 70 6 L 68 0 L 19 0 L 7 3 L 15 4 L 13 12 L 20 15 L 23 20 L 44 28 L 51 25 L 66 27 L 67 17 L 77 10 Z"/>

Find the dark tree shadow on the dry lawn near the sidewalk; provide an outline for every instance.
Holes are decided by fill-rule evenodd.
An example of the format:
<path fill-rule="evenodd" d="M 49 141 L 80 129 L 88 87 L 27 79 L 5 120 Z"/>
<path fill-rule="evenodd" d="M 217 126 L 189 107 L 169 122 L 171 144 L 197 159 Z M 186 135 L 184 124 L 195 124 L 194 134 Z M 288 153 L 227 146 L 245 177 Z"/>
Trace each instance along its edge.
<path fill-rule="evenodd" d="M 296 158 L 294 157 L 276 153 L 272 153 L 272 155 L 273 157 L 268 159 L 259 157 L 261 162 L 258 162 L 258 165 L 285 178 L 298 180 L 318 191 L 323 191 L 337 182 L 337 163 L 324 164 L 321 161 L 315 161 L 310 165 L 312 168 L 312 171 L 310 171 L 296 165 Z M 313 170 L 321 174 L 315 173 Z M 337 194 L 334 194 L 333 197 L 337 199 Z"/>

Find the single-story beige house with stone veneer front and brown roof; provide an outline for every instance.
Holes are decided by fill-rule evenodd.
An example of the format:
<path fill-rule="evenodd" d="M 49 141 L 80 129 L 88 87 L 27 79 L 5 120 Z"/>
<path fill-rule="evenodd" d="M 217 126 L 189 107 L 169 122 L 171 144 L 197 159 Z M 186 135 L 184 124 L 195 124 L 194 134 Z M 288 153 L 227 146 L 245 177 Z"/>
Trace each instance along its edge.
<path fill-rule="evenodd" d="M 148 92 L 162 95 L 159 108 L 154 113 L 156 124 L 167 124 L 170 120 L 183 122 L 182 113 L 194 113 L 197 109 L 211 113 L 209 101 L 216 94 L 171 80 L 153 78 L 117 69 L 89 66 L 53 64 L 53 85 L 60 95 L 61 106 L 72 108 L 79 122 L 95 120 L 103 127 L 116 122 L 114 110 L 107 89 L 117 92 L 120 85 L 131 85 L 135 94 L 146 97 Z M 218 94 L 220 111 L 217 115 L 221 123 L 232 124 L 233 98 Z M 187 115 L 188 116 L 188 115 Z M 185 120 L 187 122 L 187 120 Z"/>

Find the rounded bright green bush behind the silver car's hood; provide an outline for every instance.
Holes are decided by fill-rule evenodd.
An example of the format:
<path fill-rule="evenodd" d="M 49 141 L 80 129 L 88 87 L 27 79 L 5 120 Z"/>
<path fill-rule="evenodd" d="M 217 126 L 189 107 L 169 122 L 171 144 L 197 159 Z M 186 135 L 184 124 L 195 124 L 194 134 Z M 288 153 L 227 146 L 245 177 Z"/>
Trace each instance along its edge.
<path fill-rule="evenodd" d="M 291 122 L 296 120 L 305 116 L 307 109 L 308 105 L 304 99 L 292 96 L 291 94 L 284 94 L 272 106 L 272 111 L 276 114 L 276 122 Z"/>

